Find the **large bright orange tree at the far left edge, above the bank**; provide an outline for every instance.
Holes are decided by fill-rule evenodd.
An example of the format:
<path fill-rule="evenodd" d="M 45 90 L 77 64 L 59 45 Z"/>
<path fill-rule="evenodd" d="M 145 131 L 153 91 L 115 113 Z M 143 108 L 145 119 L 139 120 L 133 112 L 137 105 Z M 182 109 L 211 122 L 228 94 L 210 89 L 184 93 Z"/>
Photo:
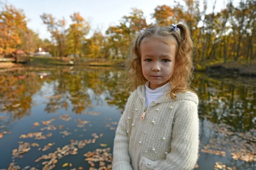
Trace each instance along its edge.
<path fill-rule="evenodd" d="M 23 11 L 12 5 L 5 5 L 0 11 L 0 54 L 15 51 L 22 43 L 20 31 L 26 29 Z"/>

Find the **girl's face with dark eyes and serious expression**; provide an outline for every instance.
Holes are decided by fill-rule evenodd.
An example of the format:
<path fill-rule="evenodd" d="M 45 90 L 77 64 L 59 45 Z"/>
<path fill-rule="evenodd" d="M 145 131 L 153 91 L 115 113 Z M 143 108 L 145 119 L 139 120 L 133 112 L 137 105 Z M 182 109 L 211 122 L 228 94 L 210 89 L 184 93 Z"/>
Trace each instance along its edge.
<path fill-rule="evenodd" d="M 165 85 L 174 70 L 177 42 L 171 36 L 166 40 L 167 43 L 157 37 L 146 37 L 140 45 L 143 76 L 153 90 Z"/>

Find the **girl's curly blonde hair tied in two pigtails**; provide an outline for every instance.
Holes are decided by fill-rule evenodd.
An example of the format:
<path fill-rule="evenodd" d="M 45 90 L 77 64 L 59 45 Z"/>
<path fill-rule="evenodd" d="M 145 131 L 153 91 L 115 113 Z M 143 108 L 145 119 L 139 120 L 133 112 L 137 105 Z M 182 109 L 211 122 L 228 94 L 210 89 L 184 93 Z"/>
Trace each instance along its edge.
<path fill-rule="evenodd" d="M 189 28 L 184 24 L 178 24 L 177 28 L 179 28 L 178 31 L 174 31 L 172 26 L 151 26 L 137 35 L 131 43 L 131 52 L 125 62 L 125 68 L 128 71 L 128 79 L 126 79 L 128 91 L 134 91 L 139 85 L 148 81 L 142 72 L 140 45 L 145 37 L 150 36 L 158 37 L 163 41 L 166 41 L 168 36 L 172 36 L 177 41 L 174 71 L 169 79 L 171 88 L 168 94 L 175 99 L 177 93 L 192 91 L 190 84 L 194 78 L 192 73 L 194 45 Z"/>

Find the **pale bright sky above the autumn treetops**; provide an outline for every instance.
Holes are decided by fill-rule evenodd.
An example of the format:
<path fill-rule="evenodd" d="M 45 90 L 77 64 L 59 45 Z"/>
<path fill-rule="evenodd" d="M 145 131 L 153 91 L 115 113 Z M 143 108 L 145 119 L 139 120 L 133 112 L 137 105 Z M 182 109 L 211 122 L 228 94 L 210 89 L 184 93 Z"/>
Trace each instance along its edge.
<path fill-rule="evenodd" d="M 152 23 L 151 14 L 158 5 L 172 6 L 174 0 L 0 0 L 2 3 L 12 4 L 15 8 L 23 9 L 29 19 L 28 28 L 39 34 L 41 39 L 50 38 L 47 26 L 43 24 L 40 15 L 43 13 L 52 14 L 56 19 L 65 18 L 67 28 L 71 24 L 70 15 L 80 12 L 85 20 L 90 22 L 91 31 L 100 29 L 103 34 L 109 26 L 116 26 L 124 15 L 129 15 L 131 8 L 138 8 L 144 12 L 147 23 Z M 203 0 L 201 1 L 201 10 Z M 207 0 L 207 13 L 212 12 L 214 0 Z M 172 3 L 173 2 L 173 3 Z M 182 0 L 180 0 L 182 2 Z M 224 8 L 227 0 L 217 0 L 215 12 Z M 239 0 L 233 0 L 238 5 Z M 181 3 L 182 4 L 182 3 Z M 175 23 L 177 24 L 177 23 Z"/>

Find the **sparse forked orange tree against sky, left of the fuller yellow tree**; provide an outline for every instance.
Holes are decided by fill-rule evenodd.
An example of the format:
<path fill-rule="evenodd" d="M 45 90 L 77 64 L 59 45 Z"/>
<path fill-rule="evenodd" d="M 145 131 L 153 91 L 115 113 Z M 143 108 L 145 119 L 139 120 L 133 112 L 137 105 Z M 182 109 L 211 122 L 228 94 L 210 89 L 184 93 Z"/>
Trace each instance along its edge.
<path fill-rule="evenodd" d="M 56 21 L 52 14 L 43 13 L 41 16 L 44 24 L 47 25 L 47 31 L 52 35 L 52 43 L 58 45 L 58 54 L 60 57 L 64 54 L 65 43 L 67 40 L 66 35 L 66 22 L 64 17 Z"/>

